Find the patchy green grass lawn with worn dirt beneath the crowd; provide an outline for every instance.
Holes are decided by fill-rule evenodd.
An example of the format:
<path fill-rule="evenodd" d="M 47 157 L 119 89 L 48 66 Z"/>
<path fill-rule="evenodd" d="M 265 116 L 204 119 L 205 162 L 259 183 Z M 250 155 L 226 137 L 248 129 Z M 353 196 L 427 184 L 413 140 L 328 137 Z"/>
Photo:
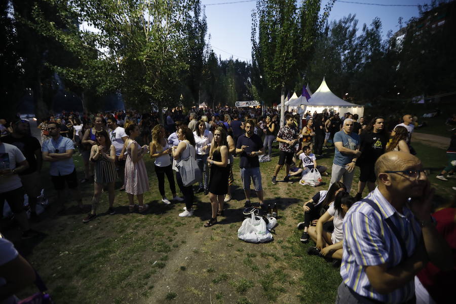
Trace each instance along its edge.
<path fill-rule="evenodd" d="M 445 151 L 421 144 L 414 147 L 425 167 L 432 168 L 430 179 L 437 188 L 437 201 L 448 200 L 456 181 L 435 179 L 445 165 Z M 318 163 L 330 168 L 333 151 L 327 151 L 327 157 Z M 82 160 L 80 156 L 74 159 L 82 178 Z M 151 208 L 146 214 L 128 213 L 127 195 L 119 191 L 117 213 L 104 214 L 104 193 L 99 216 L 93 221 L 83 224 L 85 215 L 77 208 L 56 215 L 55 206 L 51 206 L 43 221 L 34 226 L 45 236 L 15 244 L 41 274 L 57 303 L 333 302 L 341 281 L 338 270 L 320 257 L 308 256 L 306 250 L 314 244 L 301 244 L 300 231 L 296 230 L 296 223 L 303 219 L 302 203 L 327 189 L 329 177 L 323 177 L 326 185 L 315 188 L 299 185 L 298 179 L 293 184 L 273 185 L 271 176 L 277 160 L 274 157 L 272 162 L 261 164 L 265 201 L 280 204 L 279 225 L 274 241 L 268 244 L 250 244 L 237 238 L 244 205 L 239 159 L 234 165 L 234 199 L 225 207 L 226 216 L 219 218 L 219 224 L 204 228 L 210 218 L 208 197 L 196 196 L 195 217 L 178 217 L 184 205 L 159 202 L 157 178 L 148 158 L 151 190 L 144 202 Z M 43 170 L 42 184 L 52 200 L 48 167 L 46 164 Z M 359 173 L 355 176 L 354 185 Z M 165 186 L 170 197 L 167 182 Z M 89 205 L 93 185 L 82 184 L 80 191 Z M 352 188 L 352 195 L 355 193 L 356 186 Z M 10 229 L 6 234 L 14 239 L 17 232 Z M 19 295 L 33 292 L 28 288 Z"/>

